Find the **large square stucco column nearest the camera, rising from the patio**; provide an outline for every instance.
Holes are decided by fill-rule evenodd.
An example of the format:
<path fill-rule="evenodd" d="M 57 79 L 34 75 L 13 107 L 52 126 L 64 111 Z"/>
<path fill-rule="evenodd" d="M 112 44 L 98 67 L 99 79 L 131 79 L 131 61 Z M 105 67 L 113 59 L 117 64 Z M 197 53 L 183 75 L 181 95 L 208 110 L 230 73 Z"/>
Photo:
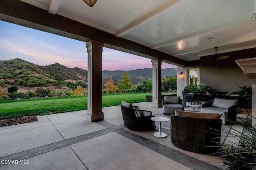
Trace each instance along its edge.
<path fill-rule="evenodd" d="M 104 43 L 90 40 L 86 43 L 88 53 L 88 111 L 86 121 L 104 119 L 102 112 L 102 48 Z"/>

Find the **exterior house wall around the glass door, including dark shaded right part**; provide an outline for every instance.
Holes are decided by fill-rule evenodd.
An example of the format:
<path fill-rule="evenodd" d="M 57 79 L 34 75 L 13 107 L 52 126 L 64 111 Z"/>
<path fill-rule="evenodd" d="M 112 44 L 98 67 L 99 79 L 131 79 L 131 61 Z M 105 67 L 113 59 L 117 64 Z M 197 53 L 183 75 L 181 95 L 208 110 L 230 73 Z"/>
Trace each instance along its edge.
<path fill-rule="evenodd" d="M 231 57 L 222 61 L 212 59 L 213 55 L 200 58 L 200 80 L 204 82 L 206 86 L 210 87 L 211 90 L 231 94 L 232 92 L 238 91 L 241 86 L 252 87 L 252 84 L 256 84 L 256 79 L 246 77 L 243 70 L 235 62 L 236 59 L 256 57 L 256 48 L 219 55 L 230 55 Z M 188 67 L 177 67 L 177 77 L 181 71 L 187 75 L 187 68 Z M 177 96 L 182 96 L 179 93 L 181 93 L 187 85 L 186 75 L 183 80 L 177 78 Z"/>

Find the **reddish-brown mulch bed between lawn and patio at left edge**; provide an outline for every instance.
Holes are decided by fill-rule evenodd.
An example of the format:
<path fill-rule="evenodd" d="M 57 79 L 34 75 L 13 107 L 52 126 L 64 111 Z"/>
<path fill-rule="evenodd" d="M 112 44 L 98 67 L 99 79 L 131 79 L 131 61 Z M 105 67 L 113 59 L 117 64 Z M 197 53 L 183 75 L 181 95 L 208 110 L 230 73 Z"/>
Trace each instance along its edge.
<path fill-rule="evenodd" d="M 23 116 L 10 119 L 2 119 L 0 120 L 0 127 L 30 123 L 34 121 L 38 121 L 36 116 Z"/>

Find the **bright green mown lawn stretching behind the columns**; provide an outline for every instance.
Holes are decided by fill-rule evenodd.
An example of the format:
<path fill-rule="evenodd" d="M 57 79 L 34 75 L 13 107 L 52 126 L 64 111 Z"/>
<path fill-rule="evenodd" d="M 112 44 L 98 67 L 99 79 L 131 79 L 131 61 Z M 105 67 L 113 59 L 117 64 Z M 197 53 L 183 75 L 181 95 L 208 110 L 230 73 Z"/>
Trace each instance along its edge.
<path fill-rule="evenodd" d="M 120 105 L 122 100 L 128 103 L 145 102 L 146 95 L 148 93 L 144 92 L 103 94 L 102 107 Z M 63 113 L 87 109 L 87 96 L 0 100 L 0 108 L 0 119 Z"/>

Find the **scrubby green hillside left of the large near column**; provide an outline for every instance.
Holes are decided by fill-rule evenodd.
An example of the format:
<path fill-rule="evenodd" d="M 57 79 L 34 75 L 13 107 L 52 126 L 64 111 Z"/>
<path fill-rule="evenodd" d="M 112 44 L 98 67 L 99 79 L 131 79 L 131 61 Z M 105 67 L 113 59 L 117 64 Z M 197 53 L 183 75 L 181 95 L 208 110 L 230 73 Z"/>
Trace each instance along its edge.
<path fill-rule="evenodd" d="M 22 59 L 0 61 L 0 86 L 49 86 L 65 80 L 87 81 L 87 71 L 77 67 L 68 68 L 58 63 L 39 66 Z"/>

